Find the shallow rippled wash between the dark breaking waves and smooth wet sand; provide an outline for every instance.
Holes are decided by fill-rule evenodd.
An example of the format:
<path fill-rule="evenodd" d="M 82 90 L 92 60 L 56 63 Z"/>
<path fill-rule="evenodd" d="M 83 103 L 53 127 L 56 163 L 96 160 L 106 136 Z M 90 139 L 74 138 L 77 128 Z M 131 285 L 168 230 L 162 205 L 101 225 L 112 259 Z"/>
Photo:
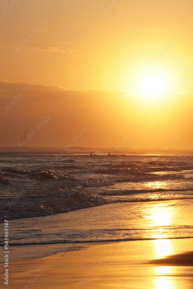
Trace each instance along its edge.
<path fill-rule="evenodd" d="M 182 205 L 186 209 L 183 216 L 179 214 Z M 38 259 L 121 242 L 157 242 L 161 249 L 169 240 L 191 241 L 192 220 L 192 201 L 187 200 L 183 203 L 179 200 L 153 201 L 151 206 L 144 203 L 143 207 L 140 203 L 111 203 L 68 213 L 16 219 L 9 223 L 10 260 L 27 260 L 28 256 Z M 0 229 L 3 232 L 3 225 Z"/>

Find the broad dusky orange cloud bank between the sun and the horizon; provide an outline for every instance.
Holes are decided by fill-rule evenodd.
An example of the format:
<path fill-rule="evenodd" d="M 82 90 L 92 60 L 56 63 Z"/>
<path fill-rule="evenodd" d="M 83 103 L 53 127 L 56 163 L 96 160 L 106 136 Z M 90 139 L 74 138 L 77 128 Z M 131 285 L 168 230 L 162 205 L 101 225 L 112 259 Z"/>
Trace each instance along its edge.
<path fill-rule="evenodd" d="M 0 146 L 17 146 L 23 136 L 43 121 L 45 115 L 51 116 L 52 120 L 32 138 L 28 146 L 62 147 L 82 127 L 89 129 L 89 132 L 85 138 L 80 139 L 78 146 L 117 146 L 142 117 L 150 121 L 135 138 L 131 138 L 130 147 L 141 147 L 141 143 L 146 147 L 163 147 L 166 126 L 170 137 L 178 129 L 184 129 L 186 137 L 179 145 L 182 148 L 192 146 L 192 138 L 189 138 L 192 129 L 191 95 L 187 96 L 190 101 L 180 97 L 180 105 L 174 106 L 172 110 L 171 121 L 171 110 L 163 108 L 161 103 L 159 107 L 149 110 L 143 101 L 139 102 L 135 97 L 115 100 L 115 95 L 118 95 L 116 90 L 82 90 L 72 95 L 70 90 L 59 86 L 36 84 L 25 93 L 22 89 L 27 85 L 0 81 L 0 122 L 3 123 L 0 126 L 0 136 L 3 136 L 0 138 Z M 19 93 L 23 93 L 23 97 L 19 98 Z M 176 99 L 175 103 L 178 104 L 179 100 Z M 7 106 L 10 106 L 9 110 Z M 182 111 L 186 111 L 186 118 L 181 118 L 179 123 Z"/>

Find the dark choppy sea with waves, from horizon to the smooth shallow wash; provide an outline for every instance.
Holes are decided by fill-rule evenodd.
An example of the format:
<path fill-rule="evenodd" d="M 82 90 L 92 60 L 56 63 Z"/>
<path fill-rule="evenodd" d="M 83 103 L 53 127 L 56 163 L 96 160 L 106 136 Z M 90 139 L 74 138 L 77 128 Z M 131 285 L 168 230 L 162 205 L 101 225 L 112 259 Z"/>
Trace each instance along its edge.
<path fill-rule="evenodd" d="M 192 178 L 193 158 L 186 156 L 2 154 L 0 217 L 46 216 L 117 201 L 192 198 Z"/>

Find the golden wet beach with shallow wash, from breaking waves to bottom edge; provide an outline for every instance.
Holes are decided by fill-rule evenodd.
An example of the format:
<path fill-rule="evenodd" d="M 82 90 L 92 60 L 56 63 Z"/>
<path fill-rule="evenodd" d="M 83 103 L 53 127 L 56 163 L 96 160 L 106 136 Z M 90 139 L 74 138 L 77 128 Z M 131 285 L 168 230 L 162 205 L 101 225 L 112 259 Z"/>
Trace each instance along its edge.
<path fill-rule="evenodd" d="M 136 216 L 137 203 L 116 203 L 10 221 L 10 240 L 17 240 L 10 245 L 9 285 L 14 289 L 192 288 L 193 218 L 192 202 L 188 205 L 188 201 L 184 206 L 181 200 L 140 203 L 141 210 L 146 206 L 145 212 L 148 205 L 152 211 L 145 225 L 143 219 L 140 224 L 139 218 L 135 220 L 126 214 L 133 212 Z M 170 227 L 156 232 L 153 223 L 159 218 L 159 212 L 157 217 L 154 212 L 160 203 L 162 218 L 166 208 Z M 174 208 L 172 215 L 168 208 Z M 130 229 L 126 230 L 126 224 Z M 113 228 L 114 240 L 108 227 Z M 130 235 L 132 227 L 141 227 L 142 231 L 136 233 L 135 240 Z M 59 234 L 60 240 L 56 240 L 58 229 L 64 231 Z M 69 240 L 68 234 L 71 234 Z M 1 269 L 3 273 L 5 268 Z"/>

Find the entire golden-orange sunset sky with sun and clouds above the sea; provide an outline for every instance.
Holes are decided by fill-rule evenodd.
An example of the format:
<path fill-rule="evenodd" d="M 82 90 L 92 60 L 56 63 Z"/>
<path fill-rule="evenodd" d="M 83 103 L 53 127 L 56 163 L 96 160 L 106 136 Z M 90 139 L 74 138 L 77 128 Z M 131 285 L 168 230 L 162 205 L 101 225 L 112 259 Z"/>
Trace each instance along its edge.
<path fill-rule="evenodd" d="M 0 146 L 193 148 L 192 0 L 0 6 Z"/>

